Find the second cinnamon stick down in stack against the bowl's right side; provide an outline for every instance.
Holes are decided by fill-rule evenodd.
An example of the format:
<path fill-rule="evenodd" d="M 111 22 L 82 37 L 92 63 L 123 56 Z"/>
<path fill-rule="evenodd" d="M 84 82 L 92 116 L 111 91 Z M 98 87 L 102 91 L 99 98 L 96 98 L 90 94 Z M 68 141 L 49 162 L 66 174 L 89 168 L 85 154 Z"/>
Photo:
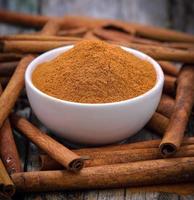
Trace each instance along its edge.
<path fill-rule="evenodd" d="M 176 78 L 170 75 L 164 75 L 164 92 L 170 95 L 176 92 Z"/>

